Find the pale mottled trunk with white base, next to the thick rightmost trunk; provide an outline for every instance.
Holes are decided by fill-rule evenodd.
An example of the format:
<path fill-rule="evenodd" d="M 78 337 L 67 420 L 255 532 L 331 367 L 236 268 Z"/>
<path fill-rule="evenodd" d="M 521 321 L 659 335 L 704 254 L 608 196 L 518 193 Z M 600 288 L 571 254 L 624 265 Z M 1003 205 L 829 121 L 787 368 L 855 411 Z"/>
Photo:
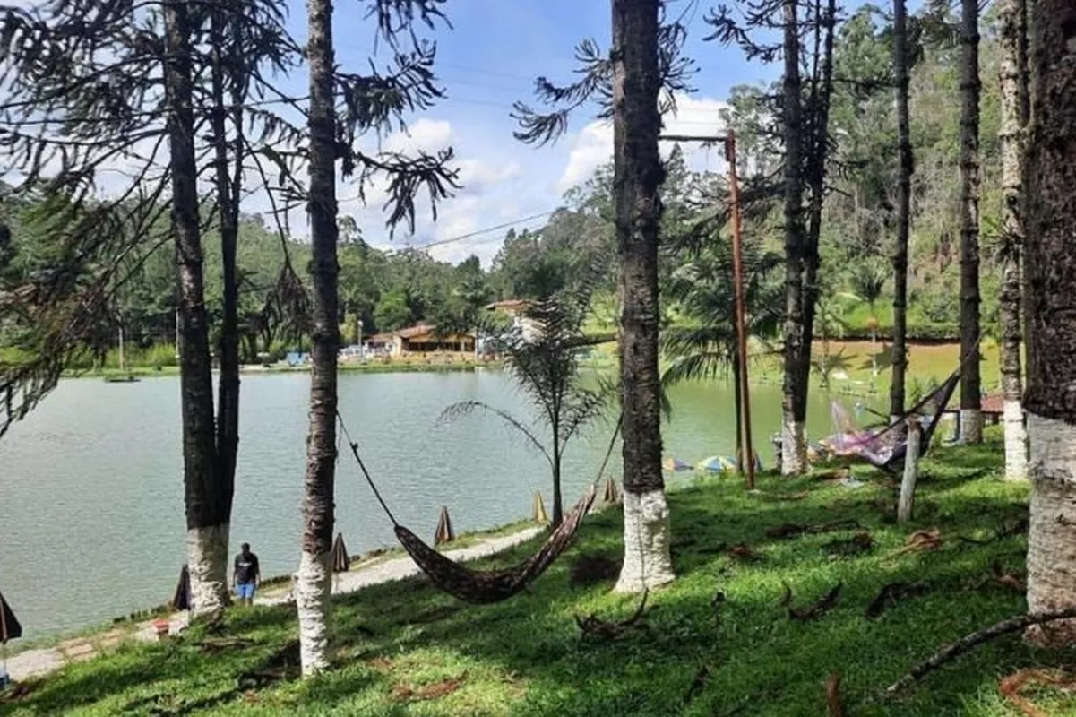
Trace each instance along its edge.
<path fill-rule="evenodd" d="M 1028 477 L 1028 436 L 1021 406 L 1020 253 L 1023 244 L 1023 132 L 1028 123 L 1028 8 L 1024 0 L 1003 0 L 1001 11 L 1002 153 L 1002 392 L 1005 477 Z"/>

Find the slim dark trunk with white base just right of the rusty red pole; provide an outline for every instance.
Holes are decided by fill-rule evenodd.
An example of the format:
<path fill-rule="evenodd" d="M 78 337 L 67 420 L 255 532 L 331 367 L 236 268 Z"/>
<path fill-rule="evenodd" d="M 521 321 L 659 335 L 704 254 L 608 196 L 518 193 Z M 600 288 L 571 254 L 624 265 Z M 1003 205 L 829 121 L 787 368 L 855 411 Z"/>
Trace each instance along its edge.
<path fill-rule="evenodd" d="M 799 24 L 796 0 L 784 5 L 784 385 L 781 403 L 781 474 L 797 475 L 807 468 L 805 416 L 798 413 L 799 396 L 807 395 L 807 371 L 801 364 L 804 342 L 804 223 L 803 223 L 803 109 L 799 80 Z M 809 364 L 808 364 L 809 368 Z"/>

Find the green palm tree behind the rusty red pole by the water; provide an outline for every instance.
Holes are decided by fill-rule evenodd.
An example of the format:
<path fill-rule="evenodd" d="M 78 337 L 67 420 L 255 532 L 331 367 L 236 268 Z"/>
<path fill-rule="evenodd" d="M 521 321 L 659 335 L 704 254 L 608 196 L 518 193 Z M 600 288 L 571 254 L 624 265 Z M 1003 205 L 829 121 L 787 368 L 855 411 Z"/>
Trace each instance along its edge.
<path fill-rule="evenodd" d="M 748 336 L 776 336 L 781 324 L 779 285 L 769 281 L 780 255 L 744 244 L 745 304 Z M 667 296 L 678 303 L 683 321 L 662 334 L 662 350 L 672 361 L 662 375 L 664 388 L 710 379 L 731 370 L 736 392 L 737 468 L 741 469 L 742 416 L 739 356 L 735 323 L 732 250 L 720 242 L 699 252 L 672 273 Z M 668 406 L 666 402 L 666 406 Z"/>

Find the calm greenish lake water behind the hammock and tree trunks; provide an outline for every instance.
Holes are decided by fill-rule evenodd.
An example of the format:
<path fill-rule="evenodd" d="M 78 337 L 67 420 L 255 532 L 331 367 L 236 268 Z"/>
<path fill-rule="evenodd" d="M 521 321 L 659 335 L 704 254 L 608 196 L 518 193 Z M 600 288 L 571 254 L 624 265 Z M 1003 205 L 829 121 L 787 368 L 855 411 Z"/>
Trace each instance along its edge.
<path fill-rule="evenodd" d="M 298 564 L 308 384 L 303 374 L 243 377 L 231 542 L 251 543 L 267 575 Z M 678 389 L 666 453 L 692 464 L 732 453 L 732 396 L 727 383 Z M 397 518 L 420 533 L 433 534 L 442 505 L 458 532 L 527 517 L 535 490 L 549 498 L 544 460 L 502 423 L 475 416 L 437 424 L 445 406 L 465 399 L 530 414 L 499 371 L 340 376 L 341 410 L 368 467 Z M 752 408 L 768 467 L 779 389 L 754 389 Z M 566 504 L 594 479 L 610 424 L 569 451 Z M 829 433 L 827 396 L 812 395 L 808 428 L 812 437 Z M 0 592 L 28 637 L 171 598 L 185 534 L 179 379 L 66 381 L 0 440 Z M 339 468 L 337 526 L 350 551 L 392 544 L 350 458 Z"/>

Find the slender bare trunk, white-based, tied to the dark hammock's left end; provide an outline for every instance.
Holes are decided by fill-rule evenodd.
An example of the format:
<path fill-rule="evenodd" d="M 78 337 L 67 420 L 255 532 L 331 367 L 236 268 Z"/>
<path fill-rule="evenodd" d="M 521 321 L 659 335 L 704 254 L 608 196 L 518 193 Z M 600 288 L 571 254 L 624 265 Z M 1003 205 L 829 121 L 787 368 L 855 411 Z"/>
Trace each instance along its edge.
<path fill-rule="evenodd" d="M 328 664 L 327 628 L 336 478 L 337 200 L 336 115 L 331 0 L 307 2 L 307 57 L 310 62 L 310 215 L 313 329 L 310 362 L 310 434 L 303 497 L 302 557 L 296 575 L 299 653 L 302 674 Z"/>

